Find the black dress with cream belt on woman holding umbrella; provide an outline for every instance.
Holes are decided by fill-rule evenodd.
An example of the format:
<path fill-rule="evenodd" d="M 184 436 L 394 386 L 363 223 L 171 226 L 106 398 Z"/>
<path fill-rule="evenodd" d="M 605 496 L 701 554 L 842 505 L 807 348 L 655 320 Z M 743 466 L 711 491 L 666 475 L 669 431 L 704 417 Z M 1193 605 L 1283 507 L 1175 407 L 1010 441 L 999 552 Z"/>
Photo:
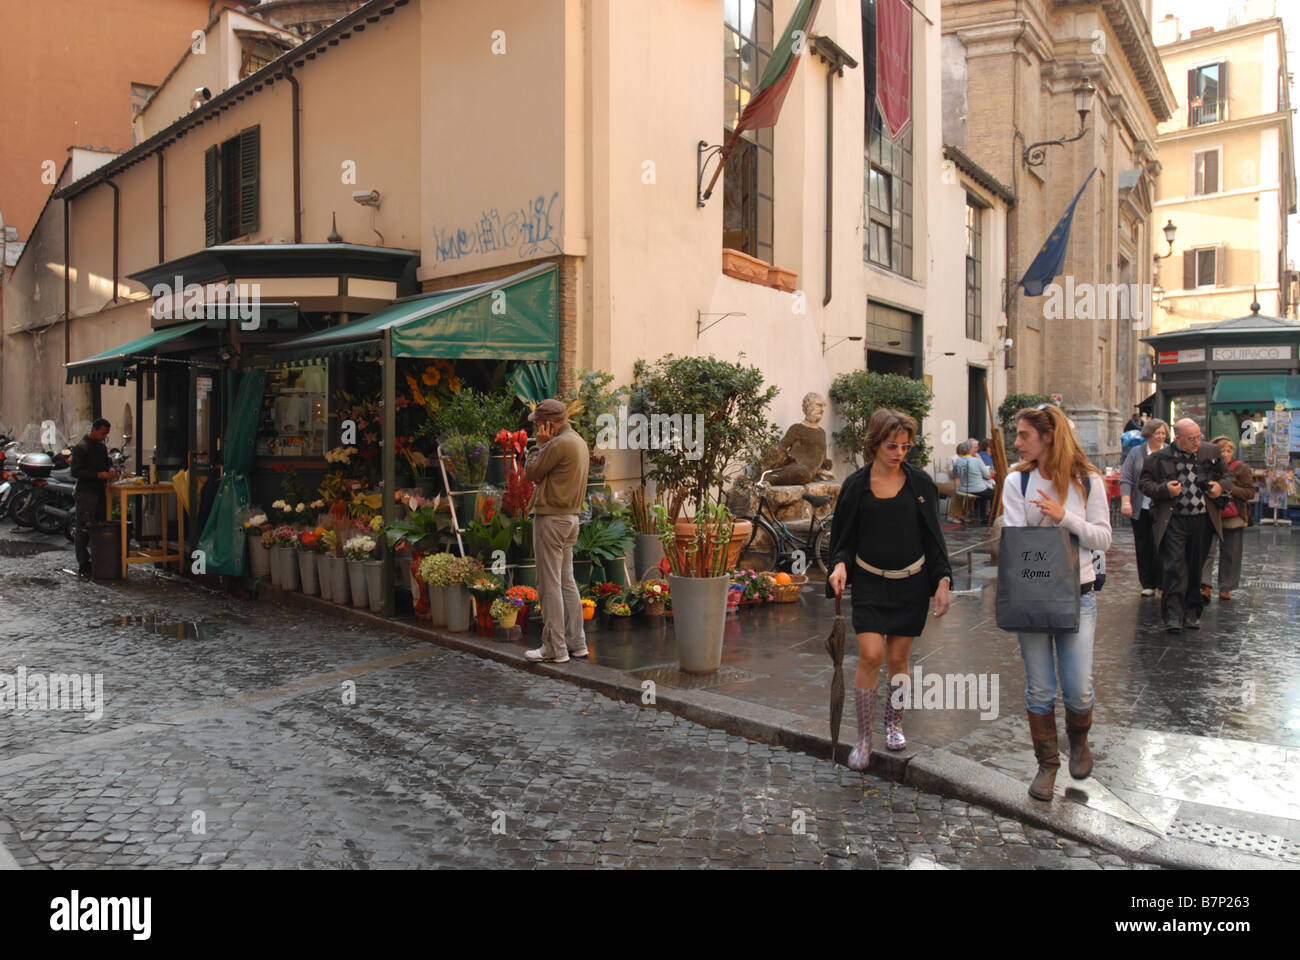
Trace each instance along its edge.
<path fill-rule="evenodd" d="M 854 542 L 858 557 L 880 570 L 902 570 L 926 555 L 920 505 L 909 484 L 888 500 L 862 492 Z M 849 565 L 853 583 L 853 631 L 885 636 L 920 636 L 930 614 L 930 571 L 887 579 Z"/>

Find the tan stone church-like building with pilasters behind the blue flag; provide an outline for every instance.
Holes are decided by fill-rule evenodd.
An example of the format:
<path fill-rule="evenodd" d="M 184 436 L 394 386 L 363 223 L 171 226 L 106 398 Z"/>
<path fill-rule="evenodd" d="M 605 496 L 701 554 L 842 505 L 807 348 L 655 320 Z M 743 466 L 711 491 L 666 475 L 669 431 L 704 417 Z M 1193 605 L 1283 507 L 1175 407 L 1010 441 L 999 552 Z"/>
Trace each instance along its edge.
<path fill-rule="evenodd" d="M 1150 393 L 1139 384 L 1138 338 L 1150 316 L 1153 242 L 1162 245 L 1152 209 L 1156 127 L 1175 108 L 1150 4 L 944 3 L 942 33 L 945 140 L 1015 198 L 1013 284 L 1096 168 L 1075 209 L 1058 295 L 1006 293 L 1008 390 L 1060 394 L 1089 455 L 1118 463 L 1121 427 Z M 1043 140 L 1067 142 L 1028 150 Z"/>

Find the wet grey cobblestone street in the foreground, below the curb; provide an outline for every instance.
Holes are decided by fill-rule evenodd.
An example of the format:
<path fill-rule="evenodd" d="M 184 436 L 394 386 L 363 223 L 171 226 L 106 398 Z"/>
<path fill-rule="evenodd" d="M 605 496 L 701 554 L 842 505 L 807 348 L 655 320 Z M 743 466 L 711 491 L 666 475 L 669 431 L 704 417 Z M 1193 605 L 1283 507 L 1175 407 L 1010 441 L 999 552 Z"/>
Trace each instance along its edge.
<path fill-rule="evenodd" d="M 125 584 L 79 581 L 61 571 L 70 550 L 48 545 L 0 550 L 0 674 L 75 673 L 87 687 L 99 674 L 103 697 L 98 717 L 88 695 L 79 710 L 0 715 L 0 866 L 1134 865 L 330 610 L 140 567 Z M 646 666 L 634 637 L 592 645 Z M 733 637 L 729 658 L 744 649 Z M 671 673 L 671 645 L 651 650 Z M 785 660 L 741 660 L 783 688 Z M 715 687 L 724 700 L 757 682 L 737 678 Z"/>

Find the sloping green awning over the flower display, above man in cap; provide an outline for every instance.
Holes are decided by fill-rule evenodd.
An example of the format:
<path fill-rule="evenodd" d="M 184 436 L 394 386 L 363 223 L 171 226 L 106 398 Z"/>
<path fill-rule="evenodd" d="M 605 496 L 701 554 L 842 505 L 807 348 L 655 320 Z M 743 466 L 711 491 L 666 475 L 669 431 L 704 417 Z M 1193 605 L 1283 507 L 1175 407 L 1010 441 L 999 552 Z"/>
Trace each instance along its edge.
<path fill-rule="evenodd" d="M 285 362 L 393 355 L 559 360 L 559 271 L 542 264 L 488 284 L 399 300 L 369 316 L 272 347 Z"/>

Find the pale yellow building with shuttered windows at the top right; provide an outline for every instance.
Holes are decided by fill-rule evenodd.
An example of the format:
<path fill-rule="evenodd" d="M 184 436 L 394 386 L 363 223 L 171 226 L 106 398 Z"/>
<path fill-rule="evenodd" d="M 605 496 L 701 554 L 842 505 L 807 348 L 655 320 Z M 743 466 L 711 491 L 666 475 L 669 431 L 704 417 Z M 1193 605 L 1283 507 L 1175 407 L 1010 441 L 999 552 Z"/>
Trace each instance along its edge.
<path fill-rule="evenodd" d="M 1157 137 L 1156 211 L 1178 238 L 1160 264 L 1156 333 L 1244 316 L 1253 298 L 1265 316 L 1292 308 L 1295 140 L 1286 35 L 1271 7 L 1253 4 L 1262 18 L 1219 29 L 1187 31 L 1173 14 L 1157 23 L 1178 109 Z"/>

